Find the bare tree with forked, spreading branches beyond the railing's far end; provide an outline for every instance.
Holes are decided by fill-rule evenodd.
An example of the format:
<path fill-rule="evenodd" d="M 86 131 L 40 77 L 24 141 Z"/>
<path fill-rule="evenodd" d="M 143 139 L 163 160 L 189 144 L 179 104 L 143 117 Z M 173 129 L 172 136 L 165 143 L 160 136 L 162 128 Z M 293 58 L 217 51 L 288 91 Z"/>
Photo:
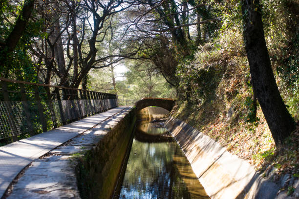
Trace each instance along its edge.
<path fill-rule="evenodd" d="M 80 6 L 85 8 L 86 14 L 82 17 L 82 32 L 83 35 L 81 40 L 79 39 L 78 45 L 78 57 L 81 71 L 79 72 L 77 79 L 74 80 L 72 87 L 78 88 L 83 78 L 88 74 L 91 68 L 103 68 L 109 66 L 105 64 L 111 57 L 117 57 L 119 60 L 128 58 L 135 55 L 136 52 L 117 55 L 98 56 L 97 44 L 105 40 L 107 32 L 112 28 L 109 24 L 113 19 L 113 16 L 119 12 L 122 12 L 135 4 L 135 0 L 124 1 L 120 0 L 114 2 L 113 0 L 108 1 L 94 1 L 94 0 L 83 0 Z M 93 22 L 89 20 L 92 18 Z M 108 22 L 108 25 L 107 25 Z M 89 28 L 89 29 L 88 29 Z M 82 49 L 82 43 L 85 39 L 85 34 L 90 31 L 88 37 L 88 52 L 84 53 Z M 110 32 L 111 34 L 112 31 Z M 117 61 L 114 61 L 117 62 Z M 104 63 L 102 66 L 96 66 L 99 63 Z"/>

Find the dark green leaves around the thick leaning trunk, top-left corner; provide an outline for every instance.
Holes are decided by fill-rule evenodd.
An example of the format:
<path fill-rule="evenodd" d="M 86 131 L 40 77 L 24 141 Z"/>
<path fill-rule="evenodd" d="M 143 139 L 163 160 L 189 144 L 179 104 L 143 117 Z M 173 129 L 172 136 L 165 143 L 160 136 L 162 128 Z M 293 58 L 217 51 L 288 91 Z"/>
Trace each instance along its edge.
<path fill-rule="evenodd" d="M 15 19 L 10 13 L 19 14 L 22 6 L 10 4 L 3 1 L 3 7 L 0 10 L 0 43 L 4 43 L 15 25 Z M 9 18 L 10 20 L 4 20 Z M 35 16 L 35 13 L 32 13 Z M 42 33 L 43 19 L 29 20 L 26 29 L 21 36 L 13 52 L 8 53 L 7 49 L 0 48 L 0 75 L 2 77 L 38 82 L 36 66 L 32 61 L 32 55 L 28 54 L 30 44 L 33 38 L 44 38 L 46 33 Z"/>

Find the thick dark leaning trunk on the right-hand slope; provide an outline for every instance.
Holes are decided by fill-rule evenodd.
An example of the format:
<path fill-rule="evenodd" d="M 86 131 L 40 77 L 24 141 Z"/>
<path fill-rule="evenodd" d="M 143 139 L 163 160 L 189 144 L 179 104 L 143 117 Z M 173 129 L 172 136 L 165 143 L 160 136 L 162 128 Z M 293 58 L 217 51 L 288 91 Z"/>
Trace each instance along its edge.
<path fill-rule="evenodd" d="M 277 146 L 295 129 L 280 96 L 269 59 L 259 0 L 242 0 L 243 37 L 256 98 Z"/>

